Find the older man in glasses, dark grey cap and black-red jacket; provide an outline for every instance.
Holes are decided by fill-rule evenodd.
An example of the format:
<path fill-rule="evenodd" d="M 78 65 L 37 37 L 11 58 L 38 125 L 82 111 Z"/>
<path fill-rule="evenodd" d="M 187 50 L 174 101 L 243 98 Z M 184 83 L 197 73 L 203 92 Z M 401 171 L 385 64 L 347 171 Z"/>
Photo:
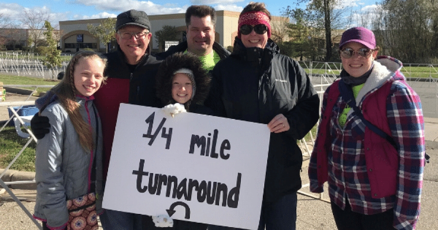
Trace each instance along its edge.
<path fill-rule="evenodd" d="M 155 75 L 160 61 L 149 55 L 150 22 L 145 12 L 129 10 L 117 16 L 116 52 L 106 54 L 107 84 L 94 94 L 95 103 L 102 114 L 104 138 L 104 175 L 106 180 L 115 124 L 120 103 L 158 107 L 155 95 Z M 141 215 L 106 210 L 101 216 L 102 227 L 108 229 L 140 230 Z"/>

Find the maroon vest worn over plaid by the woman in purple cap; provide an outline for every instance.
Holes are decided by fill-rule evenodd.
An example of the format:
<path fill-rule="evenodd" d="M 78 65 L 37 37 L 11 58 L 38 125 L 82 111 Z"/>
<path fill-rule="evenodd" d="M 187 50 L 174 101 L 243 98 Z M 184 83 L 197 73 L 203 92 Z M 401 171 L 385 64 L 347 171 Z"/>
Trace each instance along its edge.
<path fill-rule="evenodd" d="M 318 129 L 317 174 L 320 185 L 328 180 L 327 147 L 331 146 L 329 137 L 330 113 L 336 103 L 340 92 L 339 81 L 334 82 L 329 90 L 327 106 L 321 116 L 321 124 Z M 391 135 L 388 120 L 386 119 L 386 98 L 391 89 L 391 83 L 385 83 L 373 93 L 366 96 L 362 104 L 362 113 L 371 124 Z M 373 198 L 382 198 L 396 194 L 397 172 L 399 167 L 399 154 L 397 150 L 384 138 L 380 137 L 368 127 L 365 128 L 365 161 L 368 179 L 370 181 Z"/>

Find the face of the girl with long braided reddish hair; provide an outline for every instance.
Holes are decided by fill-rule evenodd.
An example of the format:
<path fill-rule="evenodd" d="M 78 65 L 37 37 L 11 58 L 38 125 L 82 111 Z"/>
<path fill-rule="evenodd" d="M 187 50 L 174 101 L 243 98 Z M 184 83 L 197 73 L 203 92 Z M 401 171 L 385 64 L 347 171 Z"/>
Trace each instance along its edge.
<path fill-rule="evenodd" d="M 102 84 L 104 69 L 105 65 L 99 58 L 81 58 L 74 68 L 74 87 L 83 96 L 93 95 Z"/>

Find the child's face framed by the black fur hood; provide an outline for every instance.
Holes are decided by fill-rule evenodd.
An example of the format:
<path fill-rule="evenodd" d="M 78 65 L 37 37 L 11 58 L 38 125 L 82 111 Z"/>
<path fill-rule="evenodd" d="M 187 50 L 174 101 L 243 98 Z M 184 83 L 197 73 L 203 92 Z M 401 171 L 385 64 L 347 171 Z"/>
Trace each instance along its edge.
<path fill-rule="evenodd" d="M 177 73 L 173 76 L 172 80 L 172 98 L 180 103 L 184 104 L 190 98 L 192 98 L 192 81 L 184 73 Z"/>

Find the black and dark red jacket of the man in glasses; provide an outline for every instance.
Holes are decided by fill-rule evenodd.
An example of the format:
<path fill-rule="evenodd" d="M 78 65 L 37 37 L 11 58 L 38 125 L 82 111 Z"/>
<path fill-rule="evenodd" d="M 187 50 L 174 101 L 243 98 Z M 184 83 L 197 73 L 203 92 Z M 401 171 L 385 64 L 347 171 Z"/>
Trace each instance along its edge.
<path fill-rule="evenodd" d="M 145 55 L 133 72 L 129 70 L 125 55 L 120 51 L 104 54 L 108 59 L 105 75 L 107 83 L 94 94 L 94 103 L 99 110 L 103 132 L 103 172 L 106 179 L 110 162 L 117 114 L 120 103 L 159 107 L 155 95 L 155 75 L 161 61 Z"/>

